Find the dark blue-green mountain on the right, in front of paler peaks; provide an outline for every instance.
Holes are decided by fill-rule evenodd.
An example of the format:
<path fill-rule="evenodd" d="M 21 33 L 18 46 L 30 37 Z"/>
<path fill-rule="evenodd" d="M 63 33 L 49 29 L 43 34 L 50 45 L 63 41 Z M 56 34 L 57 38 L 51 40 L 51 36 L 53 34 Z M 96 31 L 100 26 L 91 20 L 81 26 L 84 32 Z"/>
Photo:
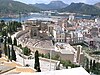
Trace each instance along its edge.
<path fill-rule="evenodd" d="M 100 15 L 100 9 L 94 5 L 84 3 L 71 3 L 69 6 L 59 10 L 60 12 L 80 13 L 87 15 Z"/>

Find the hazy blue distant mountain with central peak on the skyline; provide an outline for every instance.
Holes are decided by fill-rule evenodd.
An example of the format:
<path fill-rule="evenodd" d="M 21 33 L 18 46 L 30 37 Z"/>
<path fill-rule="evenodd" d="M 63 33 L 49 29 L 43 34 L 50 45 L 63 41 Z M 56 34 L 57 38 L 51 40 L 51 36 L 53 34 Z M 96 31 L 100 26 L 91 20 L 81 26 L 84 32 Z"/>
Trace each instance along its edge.
<path fill-rule="evenodd" d="M 62 9 L 68 6 L 68 4 L 65 4 L 62 1 L 51 1 L 49 4 L 35 4 L 35 7 L 38 7 L 42 10 L 56 10 L 56 9 Z"/>

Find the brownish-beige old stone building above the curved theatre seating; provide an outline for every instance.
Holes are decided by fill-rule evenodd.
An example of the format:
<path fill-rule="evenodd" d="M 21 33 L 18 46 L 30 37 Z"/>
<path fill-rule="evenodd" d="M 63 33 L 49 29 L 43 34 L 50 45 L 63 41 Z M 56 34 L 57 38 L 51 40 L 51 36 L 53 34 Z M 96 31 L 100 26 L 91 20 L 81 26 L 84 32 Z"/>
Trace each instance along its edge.
<path fill-rule="evenodd" d="M 53 34 L 53 25 L 40 20 L 28 20 L 22 25 L 23 30 L 29 30 L 30 37 L 35 39 L 48 39 Z"/>

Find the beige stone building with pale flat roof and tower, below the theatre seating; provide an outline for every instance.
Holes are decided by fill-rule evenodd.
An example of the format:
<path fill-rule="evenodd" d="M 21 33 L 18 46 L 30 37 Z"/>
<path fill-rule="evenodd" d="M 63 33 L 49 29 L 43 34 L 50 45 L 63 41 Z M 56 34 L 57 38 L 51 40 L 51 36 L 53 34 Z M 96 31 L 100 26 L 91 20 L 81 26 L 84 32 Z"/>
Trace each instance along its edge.
<path fill-rule="evenodd" d="M 41 44 L 41 43 L 40 43 Z M 42 46 L 45 44 L 42 44 Z M 80 48 L 78 48 L 80 47 Z M 30 47 L 29 47 L 30 48 Z M 82 47 L 77 46 L 77 48 L 73 48 L 70 44 L 65 43 L 56 43 L 54 47 L 44 47 L 42 48 L 40 45 L 37 47 L 31 47 L 32 51 L 38 50 L 39 53 L 48 54 L 51 53 L 51 56 L 59 55 L 62 60 L 70 60 L 75 64 L 83 64 L 84 54 L 82 52 Z"/>

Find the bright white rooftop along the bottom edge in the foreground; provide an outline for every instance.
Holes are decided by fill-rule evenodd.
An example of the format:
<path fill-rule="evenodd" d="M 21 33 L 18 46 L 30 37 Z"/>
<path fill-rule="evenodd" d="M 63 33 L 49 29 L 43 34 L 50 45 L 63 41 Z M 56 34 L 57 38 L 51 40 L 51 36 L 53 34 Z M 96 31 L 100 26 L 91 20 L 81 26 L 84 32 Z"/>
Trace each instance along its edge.
<path fill-rule="evenodd" d="M 32 73 L 20 73 L 19 75 L 33 75 Z M 72 68 L 56 71 L 37 72 L 34 75 L 90 75 L 84 68 Z"/>

